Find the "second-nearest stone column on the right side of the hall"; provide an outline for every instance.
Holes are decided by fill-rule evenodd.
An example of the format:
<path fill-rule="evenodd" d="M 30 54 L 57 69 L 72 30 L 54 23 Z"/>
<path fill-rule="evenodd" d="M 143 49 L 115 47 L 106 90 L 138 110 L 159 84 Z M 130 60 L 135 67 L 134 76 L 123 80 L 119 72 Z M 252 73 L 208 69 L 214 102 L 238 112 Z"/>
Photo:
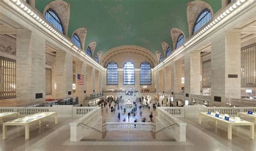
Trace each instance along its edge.
<path fill-rule="evenodd" d="M 185 98 L 190 95 L 200 95 L 200 52 L 191 52 L 185 55 Z M 188 97 L 186 97 L 188 96 Z"/>

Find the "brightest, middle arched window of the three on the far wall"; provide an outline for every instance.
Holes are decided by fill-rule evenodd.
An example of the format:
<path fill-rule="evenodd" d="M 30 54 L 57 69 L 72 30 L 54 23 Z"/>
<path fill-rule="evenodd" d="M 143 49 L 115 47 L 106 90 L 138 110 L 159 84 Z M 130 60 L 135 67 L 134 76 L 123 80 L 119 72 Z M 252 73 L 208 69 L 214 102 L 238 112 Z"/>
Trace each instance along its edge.
<path fill-rule="evenodd" d="M 132 62 L 126 62 L 124 64 L 124 84 L 134 85 L 135 83 L 135 70 Z"/>

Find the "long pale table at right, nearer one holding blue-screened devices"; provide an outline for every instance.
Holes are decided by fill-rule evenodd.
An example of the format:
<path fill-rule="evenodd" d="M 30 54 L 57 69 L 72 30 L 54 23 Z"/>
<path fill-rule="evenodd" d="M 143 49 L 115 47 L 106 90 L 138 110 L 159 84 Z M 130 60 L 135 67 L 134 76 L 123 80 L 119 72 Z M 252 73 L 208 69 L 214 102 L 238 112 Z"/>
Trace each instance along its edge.
<path fill-rule="evenodd" d="M 221 114 L 220 114 L 221 115 Z M 218 124 L 218 122 L 227 125 L 227 138 L 232 139 L 232 126 L 250 126 L 250 139 L 254 139 L 254 123 L 251 123 L 250 121 L 241 120 L 236 121 L 235 119 L 231 119 L 230 121 L 225 120 L 224 118 L 217 118 L 214 115 L 207 114 L 206 112 L 199 113 L 199 124 L 201 124 L 201 119 L 205 117 L 207 119 L 213 119 L 215 120 L 215 124 Z M 232 118 L 232 117 L 230 117 Z"/>

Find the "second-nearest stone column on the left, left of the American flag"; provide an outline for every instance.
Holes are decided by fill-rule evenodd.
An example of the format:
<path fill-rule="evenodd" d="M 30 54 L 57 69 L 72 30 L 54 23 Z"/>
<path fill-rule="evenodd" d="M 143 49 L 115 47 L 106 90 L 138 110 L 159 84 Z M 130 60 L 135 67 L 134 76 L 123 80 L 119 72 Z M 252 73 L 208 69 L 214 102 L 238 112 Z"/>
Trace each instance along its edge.
<path fill-rule="evenodd" d="M 73 69 L 70 52 L 56 52 L 55 98 L 72 97 Z M 70 94 L 70 95 L 69 95 Z"/>

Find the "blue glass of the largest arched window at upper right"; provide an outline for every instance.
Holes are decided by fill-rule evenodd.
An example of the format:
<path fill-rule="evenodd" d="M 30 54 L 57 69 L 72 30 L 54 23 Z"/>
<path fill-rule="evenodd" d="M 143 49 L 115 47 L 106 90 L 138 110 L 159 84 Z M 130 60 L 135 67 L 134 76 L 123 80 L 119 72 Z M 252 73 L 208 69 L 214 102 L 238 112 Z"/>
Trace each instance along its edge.
<path fill-rule="evenodd" d="M 205 9 L 203 10 L 197 17 L 197 21 L 194 24 L 193 34 L 200 30 L 205 24 L 208 23 L 212 19 L 212 14 L 210 10 Z"/>

